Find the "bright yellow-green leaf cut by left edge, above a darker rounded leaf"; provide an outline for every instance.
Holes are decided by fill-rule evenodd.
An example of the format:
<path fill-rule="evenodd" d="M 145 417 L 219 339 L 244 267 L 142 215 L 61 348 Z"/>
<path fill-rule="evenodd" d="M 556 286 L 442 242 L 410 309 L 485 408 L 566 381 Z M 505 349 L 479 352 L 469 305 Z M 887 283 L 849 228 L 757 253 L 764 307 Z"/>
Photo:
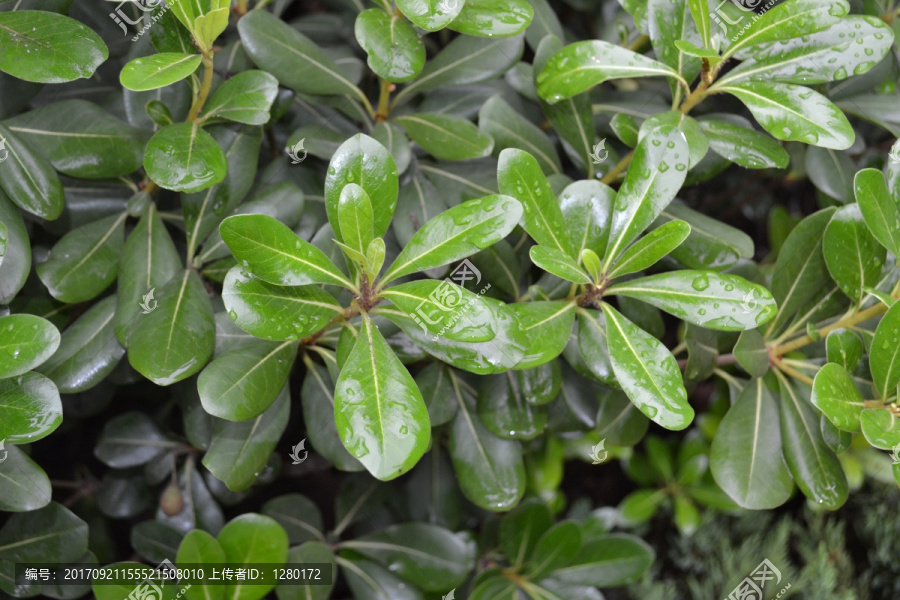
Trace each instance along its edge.
<path fill-rule="evenodd" d="M 50 321 L 28 314 L 0 317 L 0 380 L 15 377 L 49 359 L 60 335 Z"/>

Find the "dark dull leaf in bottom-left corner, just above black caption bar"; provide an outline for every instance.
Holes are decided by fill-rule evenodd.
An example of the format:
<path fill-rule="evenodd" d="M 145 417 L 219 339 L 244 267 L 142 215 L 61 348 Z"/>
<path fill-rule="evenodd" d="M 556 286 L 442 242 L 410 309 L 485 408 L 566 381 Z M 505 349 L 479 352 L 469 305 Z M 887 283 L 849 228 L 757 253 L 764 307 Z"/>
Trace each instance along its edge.
<path fill-rule="evenodd" d="M 88 526 L 61 504 L 14 514 L 0 529 L 0 559 L 73 562 L 87 552 Z"/>

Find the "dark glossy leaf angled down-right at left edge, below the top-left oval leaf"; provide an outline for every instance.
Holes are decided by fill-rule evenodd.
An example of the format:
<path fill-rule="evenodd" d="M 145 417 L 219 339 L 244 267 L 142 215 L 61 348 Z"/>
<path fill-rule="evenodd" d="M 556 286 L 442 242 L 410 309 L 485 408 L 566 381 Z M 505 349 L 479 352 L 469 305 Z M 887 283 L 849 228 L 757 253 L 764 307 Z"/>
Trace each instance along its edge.
<path fill-rule="evenodd" d="M 7 155 L 0 163 L 0 188 L 22 210 L 52 221 L 65 205 L 62 183 L 53 167 L 27 143 L 0 125 L 0 145 Z"/>

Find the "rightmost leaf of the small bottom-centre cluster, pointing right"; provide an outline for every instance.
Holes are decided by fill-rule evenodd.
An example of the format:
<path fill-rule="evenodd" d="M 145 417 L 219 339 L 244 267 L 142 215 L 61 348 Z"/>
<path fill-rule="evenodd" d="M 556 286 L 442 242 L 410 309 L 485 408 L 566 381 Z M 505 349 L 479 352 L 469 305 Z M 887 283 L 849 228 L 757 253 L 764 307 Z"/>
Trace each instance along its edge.
<path fill-rule="evenodd" d="M 603 588 L 625 585 L 639 579 L 654 557 L 653 549 L 639 537 L 605 535 L 585 542 L 575 560 L 557 569 L 553 578 Z"/>

